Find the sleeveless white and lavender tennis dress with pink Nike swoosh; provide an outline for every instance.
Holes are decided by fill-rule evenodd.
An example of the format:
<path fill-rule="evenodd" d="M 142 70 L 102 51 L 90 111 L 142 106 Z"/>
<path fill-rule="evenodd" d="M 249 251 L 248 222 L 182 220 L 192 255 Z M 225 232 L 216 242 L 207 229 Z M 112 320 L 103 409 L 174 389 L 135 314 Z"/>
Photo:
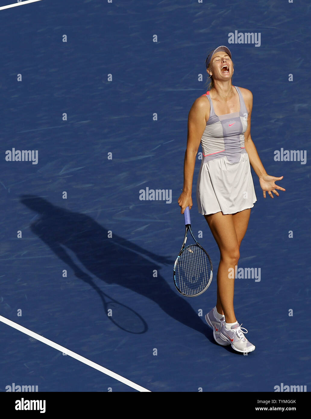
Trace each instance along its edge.
<path fill-rule="evenodd" d="M 209 92 L 210 118 L 201 138 L 203 158 L 197 181 L 197 204 L 201 214 L 234 214 L 254 207 L 257 201 L 249 155 L 244 147 L 248 112 L 243 96 L 240 111 L 217 116 Z"/>

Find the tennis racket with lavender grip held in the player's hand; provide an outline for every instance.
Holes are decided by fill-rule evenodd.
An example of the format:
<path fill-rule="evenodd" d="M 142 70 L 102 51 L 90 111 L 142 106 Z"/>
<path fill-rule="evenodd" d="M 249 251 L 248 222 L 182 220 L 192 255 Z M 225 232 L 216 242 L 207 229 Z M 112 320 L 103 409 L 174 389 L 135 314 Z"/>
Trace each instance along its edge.
<path fill-rule="evenodd" d="M 174 264 L 174 284 L 186 297 L 202 294 L 210 286 L 213 278 L 213 265 L 207 252 L 197 242 L 191 231 L 189 207 L 184 210 L 186 233 L 184 243 Z M 188 232 L 195 243 L 185 247 Z"/>

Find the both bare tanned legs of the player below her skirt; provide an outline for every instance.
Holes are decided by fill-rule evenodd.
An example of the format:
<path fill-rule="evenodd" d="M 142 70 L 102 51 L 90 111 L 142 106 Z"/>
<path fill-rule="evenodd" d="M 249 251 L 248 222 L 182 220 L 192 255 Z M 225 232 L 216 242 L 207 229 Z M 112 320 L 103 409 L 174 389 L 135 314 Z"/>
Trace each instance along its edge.
<path fill-rule="evenodd" d="M 222 212 L 205 215 L 220 250 L 217 272 L 218 313 L 224 314 L 227 323 L 236 322 L 233 308 L 234 278 L 228 278 L 229 269 L 235 272 L 240 257 L 240 245 L 247 230 L 251 209 L 236 214 L 223 215 Z"/>

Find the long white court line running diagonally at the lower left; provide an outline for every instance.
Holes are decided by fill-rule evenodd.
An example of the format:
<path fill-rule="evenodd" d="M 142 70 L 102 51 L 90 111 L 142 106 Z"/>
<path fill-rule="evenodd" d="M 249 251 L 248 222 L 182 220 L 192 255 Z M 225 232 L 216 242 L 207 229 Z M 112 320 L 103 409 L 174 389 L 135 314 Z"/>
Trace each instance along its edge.
<path fill-rule="evenodd" d="M 104 374 L 109 375 L 112 378 L 115 378 L 118 381 L 121 381 L 121 383 L 124 383 L 132 388 L 135 388 L 135 390 L 137 391 L 141 391 L 141 392 L 150 392 L 150 390 L 147 390 L 146 388 L 141 387 L 140 385 L 133 383 L 130 380 L 127 380 L 127 378 L 122 377 L 122 375 L 116 374 L 113 371 L 107 370 L 107 368 L 102 367 L 101 365 L 96 364 L 95 362 L 92 362 L 90 360 L 88 360 L 87 358 L 81 357 L 81 355 L 76 354 L 73 351 L 70 351 L 67 348 L 64 348 L 63 346 L 60 346 L 59 344 L 50 341 L 47 338 L 44 338 L 41 335 L 38 335 L 37 333 L 34 333 L 33 331 L 26 329 L 25 327 L 21 326 L 18 323 L 14 323 L 13 321 L 9 320 L 8 318 L 2 317 L 0 316 L 0 321 L 2 321 L 3 323 L 7 324 L 8 326 L 11 326 L 17 330 L 19 330 L 20 332 L 25 333 L 26 335 L 31 336 L 34 339 L 37 339 L 43 343 L 45 343 L 46 345 L 51 346 L 52 348 L 57 349 L 60 352 L 64 352 L 65 354 L 69 355 L 72 358 L 75 358 L 76 360 L 83 362 L 84 364 L 88 365 L 89 367 L 95 368 L 96 370 L 100 371 L 100 372 L 104 372 Z"/>

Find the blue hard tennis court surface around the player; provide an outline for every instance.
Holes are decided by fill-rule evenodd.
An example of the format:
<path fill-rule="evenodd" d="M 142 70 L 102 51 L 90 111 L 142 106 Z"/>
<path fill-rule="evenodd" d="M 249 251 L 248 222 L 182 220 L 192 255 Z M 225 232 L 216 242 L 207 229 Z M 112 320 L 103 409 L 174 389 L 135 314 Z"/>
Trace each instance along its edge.
<path fill-rule="evenodd" d="M 309 391 L 310 8 L 42 0 L 0 10 L 0 315 L 152 392 Z M 260 33 L 260 46 L 228 44 L 235 31 Z M 233 84 L 253 93 L 262 163 L 286 189 L 264 199 L 252 170 L 238 267 L 260 277 L 236 279 L 234 300 L 256 346 L 247 356 L 217 345 L 205 322 L 219 251 L 195 187 L 192 230 L 214 278 L 195 298 L 173 282 L 187 117 L 207 90 L 207 52 L 222 44 Z M 31 161 L 10 159 L 22 150 Z M 276 161 L 285 150 L 301 159 Z M 152 190 L 161 199 L 143 199 Z M 109 298 L 122 305 L 119 325 Z M 3 322 L 0 333 L 2 392 L 136 391 Z"/>

